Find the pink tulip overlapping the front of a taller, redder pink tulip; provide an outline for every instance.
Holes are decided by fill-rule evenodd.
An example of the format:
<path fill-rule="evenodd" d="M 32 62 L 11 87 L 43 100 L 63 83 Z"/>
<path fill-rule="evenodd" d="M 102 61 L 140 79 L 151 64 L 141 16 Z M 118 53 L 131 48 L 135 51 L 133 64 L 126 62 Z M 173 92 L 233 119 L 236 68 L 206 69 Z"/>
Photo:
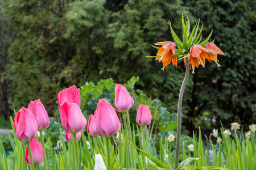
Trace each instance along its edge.
<path fill-rule="evenodd" d="M 59 109 L 61 125 L 65 131 L 77 134 L 85 128 L 87 122 L 79 105 L 65 101 Z"/>

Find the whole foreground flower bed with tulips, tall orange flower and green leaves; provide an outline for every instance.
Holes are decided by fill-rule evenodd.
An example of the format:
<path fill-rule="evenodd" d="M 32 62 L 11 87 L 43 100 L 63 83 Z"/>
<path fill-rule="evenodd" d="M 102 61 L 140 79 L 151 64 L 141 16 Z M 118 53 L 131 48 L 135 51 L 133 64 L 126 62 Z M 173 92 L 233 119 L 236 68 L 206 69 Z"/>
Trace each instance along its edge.
<path fill-rule="evenodd" d="M 220 66 L 217 55 L 224 53 L 214 40 L 209 42 L 212 32 L 207 39 L 201 40 L 203 23 L 200 20 L 190 30 L 189 19 L 182 16 L 182 39 L 177 37 L 171 21 L 168 23 L 174 42 L 156 42 L 155 45 L 162 46 L 153 46 L 158 49 L 156 56 L 147 57 L 162 61 L 163 71 L 171 63 L 177 66 L 177 61 L 184 61 L 185 77 L 180 88 L 177 114 L 164 112 L 166 121 L 171 116 L 177 120 L 165 122 L 161 127 L 159 122 L 165 117 L 158 113 L 160 101 L 148 99 L 143 91 L 134 91 L 134 84 L 139 78 L 131 78 L 124 86 L 115 84 L 112 79 L 101 80 L 97 86 L 85 83 L 81 89 L 72 86 L 57 95 L 59 109 L 56 117 L 60 119 L 61 126 L 55 129 L 60 137 L 56 148 L 52 147 L 55 143 L 47 128 L 59 120 L 48 117 L 40 99 L 31 101 L 28 108 L 22 107 L 15 114 L 14 120 L 10 118 L 14 139 L 9 133 L 8 138 L 13 152 L 6 155 L 0 141 L 0 168 L 256 170 L 254 124 L 246 134 L 240 131 L 241 125 L 237 123 L 231 125 L 232 133 L 222 127 L 218 136 L 218 129 L 214 129 L 205 142 L 200 129 L 198 136 L 194 133 L 193 138 L 182 138 L 181 108 L 189 70 L 195 73 L 196 67 L 205 67 L 205 60 Z M 155 127 L 158 123 L 159 129 L 167 130 L 167 125 L 172 134 L 159 135 Z M 212 140 L 212 136 L 217 141 Z M 174 141 L 176 145 L 172 146 Z"/>

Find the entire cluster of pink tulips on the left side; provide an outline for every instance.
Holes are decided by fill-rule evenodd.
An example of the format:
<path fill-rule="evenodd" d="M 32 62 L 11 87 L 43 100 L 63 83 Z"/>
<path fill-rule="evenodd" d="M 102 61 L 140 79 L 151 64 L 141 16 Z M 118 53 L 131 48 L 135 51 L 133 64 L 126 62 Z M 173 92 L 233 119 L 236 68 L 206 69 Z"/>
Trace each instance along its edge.
<path fill-rule="evenodd" d="M 76 145 L 76 142 L 81 138 L 81 131 L 84 130 L 87 124 L 80 109 L 80 88 L 76 88 L 76 86 L 65 88 L 59 92 L 57 99 L 61 125 L 66 131 L 65 138 L 68 142 L 71 142 L 72 145 Z M 115 109 L 122 113 L 129 111 L 134 105 L 133 98 L 121 84 L 116 84 L 115 86 L 114 105 Z M 98 100 L 94 116 L 91 114 L 88 120 L 87 130 L 89 135 L 92 137 L 100 135 L 101 137 L 107 138 L 107 141 L 109 141 L 109 138 L 121 128 L 121 123 L 115 109 L 107 100 Z M 144 127 L 150 124 L 151 119 L 150 109 L 146 105 L 140 104 L 136 117 L 137 124 Z M 22 107 L 19 112 L 15 114 L 14 127 L 16 136 L 20 141 L 27 143 L 25 162 L 31 165 L 32 169 L 34 169 L 34 165 L 40 164 L 43 160 L 44 169 L 48 169 L 46 159 L 44 158 L 45 148 L 42 131 L 48 128 L 49 123 L 48 114 L 40 99 L 31 101 L 28 105 L 28 109 Z M 42 145 L 35 139 L 38 131 L 40 132 Z M 73 154 L 76 158 L 77 145 L 73 147 L 73 150 L 75 150 Z M 109 155 L 107 159 L 110 159 Z M 77 162 L 77 159 L 75 159 L 74 162 Z M 106 161 L 106 164 L 109 170 L 109 160 Z M 76 163 L 73 168 L 79 169 L 79 165 Z"/>

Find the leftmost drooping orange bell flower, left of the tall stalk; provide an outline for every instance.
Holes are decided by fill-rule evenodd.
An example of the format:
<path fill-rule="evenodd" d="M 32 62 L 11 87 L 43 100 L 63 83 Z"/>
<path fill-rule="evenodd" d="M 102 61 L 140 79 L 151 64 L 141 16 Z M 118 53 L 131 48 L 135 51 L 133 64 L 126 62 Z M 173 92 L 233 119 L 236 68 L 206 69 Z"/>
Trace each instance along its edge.
<path fill-rule="evenodd" d="M 172 54 L 175 53 L 176 44 L 172 41 L 164 41 L 164 42 L 156 42 L 155 45 L 162 45 L 162 47 L 158 50 L 158 53 L 156 53 L 155 60 L 158 60 L 159 62 L 163 62 L 163 69 L 165 66 L 170 64 L 172 62 L 172 66 L 177 66 L 177 57 L 172 57 Z"/>

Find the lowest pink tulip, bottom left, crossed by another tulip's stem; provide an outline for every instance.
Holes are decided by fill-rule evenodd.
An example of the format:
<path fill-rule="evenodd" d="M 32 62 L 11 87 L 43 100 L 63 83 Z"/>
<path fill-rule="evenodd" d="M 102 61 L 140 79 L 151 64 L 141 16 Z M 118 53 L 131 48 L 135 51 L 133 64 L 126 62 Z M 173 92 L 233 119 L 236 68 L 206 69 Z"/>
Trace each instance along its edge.
<path fill-rule="evenodd" d="M 36 139 L 33 139 L 30 142 L 30 147 L 31 147 L 33 162 L 34 162 L 34 165 L 36 166 L 36 165 L 40 164 L 44 159 L 44 149 L 43 149 L 42 145 L 38 141 L 36 141 Z M 27 147 L 26 147 L 25 162 L 28 165 L 31 165 L 30 154 L 28 152 Z"/>

